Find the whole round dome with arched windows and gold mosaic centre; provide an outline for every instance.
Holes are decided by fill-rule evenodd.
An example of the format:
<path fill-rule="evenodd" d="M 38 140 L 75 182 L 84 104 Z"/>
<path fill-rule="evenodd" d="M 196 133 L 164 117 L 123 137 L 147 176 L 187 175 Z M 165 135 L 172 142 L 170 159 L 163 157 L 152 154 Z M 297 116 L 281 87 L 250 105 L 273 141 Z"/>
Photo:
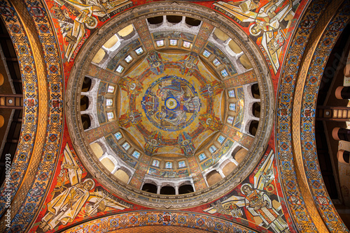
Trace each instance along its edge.
<path fill-rule="evenodd" d="M 112 193 L 176 209 L 251 173 L 272 130 L 273 88 L 241 29 L 204 7 L 170 6 L 136 7 L 90 36 L 66 117 L 80 160 Z"/>

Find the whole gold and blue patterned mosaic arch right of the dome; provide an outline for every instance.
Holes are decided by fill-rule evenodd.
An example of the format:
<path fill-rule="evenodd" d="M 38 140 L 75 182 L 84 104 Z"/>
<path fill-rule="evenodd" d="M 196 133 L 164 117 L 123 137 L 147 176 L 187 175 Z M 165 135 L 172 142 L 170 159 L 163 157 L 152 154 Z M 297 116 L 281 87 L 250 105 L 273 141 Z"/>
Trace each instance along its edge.
<path fill-rule="evenodd" d="M 328 4 L 331 2 L 332 1 L 327 1 L 327 0 L 312 1 L 309 7 L 307 8 L 306 13 L 304 13 L 302 20 L 298 24 L 297 30 L 295 32 L 295 36 L 291 41 L 290 47 L 288 49 L 288 53 L 287 53 L 288 55 L 286 56 L 285 64 L 283 66 L 284 73 L 281 75 L 281 78 L 279 81 L 279 91 L 277 96 L 276 151 L 278 155 L 277 161 L 278 161 L 279 171 L 281 174 L 280 180 L 283 186 L 283 192 L 286 195 L 286 200 L 289 207 L 288 209 L 292 213 L 291 215 L 295 220 L 298 230 L 303 232 L 318 232 L 318 230 L 321 230 L 321 231 L 325 230 L 323 223 L 312 222 L 312 220 L 315 217 L 311 218 L 311 216 L 318 215 L 319 213 L 317 213 L 316 209 L 308 209 L 308 207 L 311 207 L 312 205 L 311 204 L 312 200 L 309 200 L 307 197 L 305 197 L 305 195 L 312 195 L 314 197 L 314 201 L 315 201 L 314 204 L 316 204 L 316 206 L 318 207 L 318 211 L 321 212 L 323 216 L 323 220 L 325 220 L 325 223 L 328 226 L 328 230 L 335 231 L 335 232 L 337 232 L 337 230 L 340 230 L 342 232 L 347 232 L 346 227 L 344 227 L 344 224 L 339 219 L 339 217 L 338 218 L 335 217 L 337 216 L 337 213 L 331 204 L 330 204 L 331 207 L 328 208 L 324 204 L 321 204 L 321 202 L 318 202 L 318 203 L 316 202 L 318 200 L 317 197 L 319 196 L 320 193 L 322 193 L 323 201 L 329 200 L 329 197 L 326 194 L 327 192 L 325 191 L 324 186 L 321 184 L 323 182 L 322 181 L 320 182 L 322 178 L 321 178 L 319 169 L 316 165 L 318 162 L 316 157 L 316 146 L 314 142 L 315 140 L 314 130 L 311 130 L 310 132 L 307 132 L 307 133 L 305 132 L 309 130 L 310 127 L 312 128 L 312 126 L 314 126 L 314 110 L 311 110 L 309 114 L 307 114 L 306 110 L 310 109 L 312 104 L 307 103 L 307 101 L 305 101 L 304 103 L 300 103 L 300 98 L 302 93 L 296 93 L 295 91 L 297 77 L 302 72 L 300 70 L 300 67 L 301 67 L 302 58 L 304 57 L 305 47 L 307 46 L 310 47 L 311 43 L 309 43 L 309 41 L 314 39 L 312 38 L 312 36 L 314 36 L 312 32 L 316 28 L 316 24 L 318 23 L 318 20 L 320 20 L 322 16 L 329 14 L 327 12 L 325 13 L 325 9 L 328 6 Z M 336 5 L 336 3 L 334 2 L 333 4 Z M 328 8 L 330 7 L 328 6 Z M 336 10 L 336 8 L 334 10 Z M 329 26 L 330 25 L 328 25 L 328 27 Z M 327 33 L 327 31 L 325 33 Z M 336 36 L 336 34 L 334 33 L 332 36 Z M 323 43 L 324 41 L 325 40 L 320 40 L 320 43 Z M 316 50 L 316 52 L 314 53 L 314 56 L 316 56 L 315 61 L 312 61 L 311 63 L 312 65 L 310 66 L 309 71 L 314 70 L 315 65 L 317 66 L 316 67 L 317 69 L 319 68 L 319 65 L 316 63 L 316 59 L 320 59 L 319 57 L 320 54 L 318 54 L 318 51 L 320 50 L 322 51 L 322 54 L 323 54 L 322 55 L 323 59 L 321 60 L 324 60 L 325 57 L 328 57 L 328 54 L 331 48 L 330 50 L 327 49 L 328 52 L 325 50 L 324 47 L 321 47 L 318 50 Z M 308 59 L 311 59 L 311 58 L 308 58 Z M 324 66 L 325 66 L 326 62 L 325 61 L 322 61 L 322 62 L 324 62 Z M 320 70 L 321 70 L 321 74 L 319 74 L 318 78 L 321 79 L 323 70 L 322 69 Z M 312 101 L 316 101 L 317 100 L 316 92 L 318 90 L 318 84 L 316 84 L 317 78 L 312 75 L 312 72 L 309 73 L 310 76 L 308 77 L 309 79 L 308 82 L 304 82 L 303 84 L 304 84 L 304 91 L 307 91 L 308 93 L 311 91 L 311 93 L 313 93 L 314 95 L 314 98 L 312 99 Z M 310 82 L 311 80 L 312 82 Z M 298 80 L 298 82 L 300 81 Z M 298 97 L 297 95 L 300 95 L 300 97 Z M 308 96 L 308 95 L 303 95 L 302 96 L 303 100 L 306 100 L 305 96 Z M 300 107 L 302 107 L 302 110 L 300 110 Z M 293 113 L 292 113 L 292 110 L 293 110 Z M 302 120 L 295 121 L 295 119 L 293 119 L 293 126 L 292 126 L 292 117 L 293 118 L 299 117 L 300 114 L 302 114 L 302 117 L 301 117 Z M 309 121 L 310 127 L 304 128 L 303 122 L 306 122 L 306 121 Z M 300 135 L 295 135 L 293 131 L 299 132 L 299 130 L 301 130 L 302 133 Z M 298 150 L 300 148 L 293 148 L 292 132 L 293 132 L 294 139 L 295 137 L 298 137 L 299 139 L 300 137 L 302 138 L 299 144 L 297 144 L 297 142 L 294 142 L 295 145 L 300 146 L 302 149 L 302 155 L 300 155 L 299 157 L 297 153 L 295 153 L 295 150 Z M 301 158 L 301 156 L 303 157 Z M 309 192 L 308 188 L 304 187 L 302 182 L 298 183 L 297 181 L 297 173 L 296 173 L 297 171 L 295 170 L 295 166 L 299 162 L 298 158 L 300 158 L 300 161 L 301 160 L 304 161 L 305 172 L 304 173 L 301 172 L 302 174 L 300 175 L 307 176 L 309 181 L 316 178 L 317 181 L 320 182 L 318 188 L 314 190 L 316 191 L 314 193 L 307 194 Z M 314 178 L 311 178 L 311 177 L 314 177 Z M 309 184 L 309 188 L 311 188 L 312 190 L 314 188 L 311 187 L 311 183 Z"/>

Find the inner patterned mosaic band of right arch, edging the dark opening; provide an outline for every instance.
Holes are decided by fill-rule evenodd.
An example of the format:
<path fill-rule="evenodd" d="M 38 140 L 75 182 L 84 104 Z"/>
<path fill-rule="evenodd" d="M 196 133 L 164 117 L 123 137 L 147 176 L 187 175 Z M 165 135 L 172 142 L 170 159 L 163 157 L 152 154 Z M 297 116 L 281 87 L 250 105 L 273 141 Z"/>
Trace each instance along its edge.
<path fill-rule="evenodd" d="M 311 59 L 312 66 L 310 66 L 307 71 L 308 75 L 305 80 L 304 90 L 302 90 L 302 109 L 301 112 L 298 113 L 298 116 L 301 118 L 300 122 L 304 126 L 311 125 L 314 127 L 314 112 L 316 112 L 318 87 L 323 77 L 323 70 L 327 64 L 328 54 L 332 51 L 332 48 L 337 42 L 337 38 L 340 36 L 349 21 L 350 3 L 349 1 L 345 1 L 342 6 L 340 6 L 339 11 L 333 17 L 332 21 L 328 24 L 328 27 L 323 32 L 323 35 L 316 46 L 316 50 Z M 328 41 L 328 43 L 324 43 L 325 41 Z M 312 116 L 304 114 L 305 110 L 311 111 Z M 342 220 L 340 220 L 340 217 L 328 196 L 327 190 L 323 185 L 321 169 L 318 165 L 314 132 L 307 127 L 301 127 L 300 130 L 300 143 L 304 145 L 302 146 L 302 161 L 304 163 L 304 170 L 307 176 L 309 189 L 314 198 L 314 203 L 330 231 L 346 232 L 346 227 L 344 223 L 342 223 Z"/>

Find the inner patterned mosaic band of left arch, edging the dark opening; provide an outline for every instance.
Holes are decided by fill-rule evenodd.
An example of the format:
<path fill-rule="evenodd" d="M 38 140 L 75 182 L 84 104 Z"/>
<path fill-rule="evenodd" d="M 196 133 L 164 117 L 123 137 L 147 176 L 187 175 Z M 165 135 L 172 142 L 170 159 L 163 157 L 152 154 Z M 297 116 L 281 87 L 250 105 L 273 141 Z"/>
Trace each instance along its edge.
<path fill-rule="evenodd" d="M 6 14 L 1 14 L 1 16 L 3 17 L 8 33 L 13 40 L 15 51 L 18 54 L 20 69 L 26 70 L 21 74 L 23 86 L 25 87 L 30 85 L 35 87 L 31 88 L 30 90 L 27 88 L 23 89 L 25 111 L 22 124 L 36 126 L 38 124 L 38 77 L 34 63 L 34 52 L 31 50 L 31 45 L 29 43 L 29 38 L 26 34 L 25 27 L 23 27 L 22 23 L 20 22 L 19 17 L 15 12 L 15 8 L 13 8 L 12 5 L 6 1 L 1 2 L 0 6 L 3 11 L 6 9 L 7 12 Z M 31 160 L 33 153 L 34 142 L 36 140 L 36 128 L 27 127 L 22 130 L 22 135 L 26 135 L 26 137 L 20 137 L 18 143 L 20 146 L 18 146 L 18 151 L 16 151 L 15 158 L 12 161 L 12 169 L 10 174 L 12 177 L 11 186 L 9 188 L 6 188 L 6 186 L 1 187 L 0 216 L 3 215 L 4 211 L 6 211 L 6 200 L 8 198 L 13 200 L 13 197 L 15 196 L 15 193 L 17 193 L 18 188 L 20 188 L 26 174 L 27 167 L 29 166 L 29 161 Z M 11 209 L 15 209 L 17 206 L 14 206 L 13 204 L 11 207 Z"/>

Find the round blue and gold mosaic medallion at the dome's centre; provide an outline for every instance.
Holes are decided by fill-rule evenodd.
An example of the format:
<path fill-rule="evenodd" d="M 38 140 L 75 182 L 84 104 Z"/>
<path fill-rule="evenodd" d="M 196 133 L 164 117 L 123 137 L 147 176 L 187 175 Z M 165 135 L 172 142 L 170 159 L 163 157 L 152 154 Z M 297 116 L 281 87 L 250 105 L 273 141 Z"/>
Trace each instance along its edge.
<path fill-rule="evenodd" d="M 181 77 L 167 75 L 148 87 L 141 105 L 153 126 L 176 131 L 195 120 L 201 103 L 192 84 Z"/>

